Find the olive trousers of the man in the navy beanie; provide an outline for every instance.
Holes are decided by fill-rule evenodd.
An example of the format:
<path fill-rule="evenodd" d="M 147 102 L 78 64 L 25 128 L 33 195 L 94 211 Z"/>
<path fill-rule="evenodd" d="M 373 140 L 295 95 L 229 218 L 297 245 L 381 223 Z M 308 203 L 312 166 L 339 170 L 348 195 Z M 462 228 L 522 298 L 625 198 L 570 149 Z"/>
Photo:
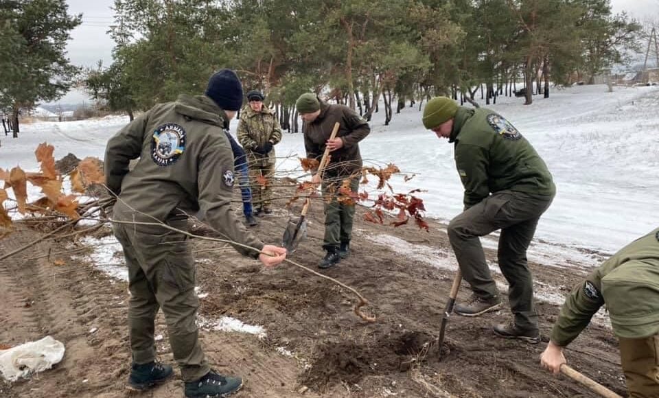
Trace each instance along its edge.
<path fill-rule="evenodd" d="M 172 224 L 185 230 L 185 222 Z M 190 382 L 210 371 L 195 323 L 199 299 L 194 292 L 194 259 L 187 236 L 158 229 L 136 231 L 129 224 L 114 224 L 128 266 L 128 329 L 132 360 L 146 364 L 155 359 L 154 323 L 163 309 L 174 360 L 181 377 Z"/>

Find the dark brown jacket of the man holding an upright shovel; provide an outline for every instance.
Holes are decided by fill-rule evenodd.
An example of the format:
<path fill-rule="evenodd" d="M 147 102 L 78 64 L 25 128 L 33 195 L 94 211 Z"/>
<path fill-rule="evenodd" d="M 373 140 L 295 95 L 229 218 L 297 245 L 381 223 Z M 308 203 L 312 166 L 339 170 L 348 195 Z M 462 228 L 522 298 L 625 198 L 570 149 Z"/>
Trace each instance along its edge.
<path fill-rule="evenodd" d="M 340 124 L 336 137 L 343 140 L 343 147 L 330 152 L 331 158 L 325 167 L 327 176 L 349 176 L 362 169 L 362 155 L 358 143 L 362 141 L 371 128 L 354 110 L 345 105 L 325 104 L 321 102 L 321 113 L 312 123 L 304 122 L 304 147 L 307 157 L 318 161 L 325 152 L 325 141 L 332 135 L 334 123 Z"/>

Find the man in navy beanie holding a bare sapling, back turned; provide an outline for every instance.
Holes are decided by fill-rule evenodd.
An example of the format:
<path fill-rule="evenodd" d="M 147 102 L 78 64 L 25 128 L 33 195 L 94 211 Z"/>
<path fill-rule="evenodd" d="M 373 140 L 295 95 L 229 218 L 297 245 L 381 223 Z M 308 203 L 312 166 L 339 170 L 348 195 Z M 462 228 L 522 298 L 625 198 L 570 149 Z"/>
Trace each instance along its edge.
<path fill-rule="evenodd" d="M 223 128 L 241 104 L 238 76 L 223 69 L 211 76 L 206 95 L 158 104 L 108 141 L 106 183 L 117 196 L 114 233 L 128 266 L 129 388 L 145 390 L 172 374 L 171 366 L 154 362 L 159 308 L 186 397 L 224 397 L 242 386 L 240 377 L 219 375 L 207 363 L 195 324 L 199 299 L 189 240 L 166 227 L 187 231 L 187 215 L 200 212 L 243 255 L 265 266 L 286 257 L 284 248 L 264 246 L 246 231 L 231 206 L 233 152 Z M 128 163 L 138 158 L 129 172 Z"/>

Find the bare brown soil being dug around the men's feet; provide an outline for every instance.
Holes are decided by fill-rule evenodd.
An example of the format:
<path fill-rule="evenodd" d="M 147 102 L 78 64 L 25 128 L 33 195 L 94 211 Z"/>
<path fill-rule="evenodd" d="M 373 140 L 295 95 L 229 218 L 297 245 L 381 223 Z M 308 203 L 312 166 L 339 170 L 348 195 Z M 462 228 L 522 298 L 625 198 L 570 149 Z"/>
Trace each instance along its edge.
<path fill-rule="evenodd" d="M 238 210 L 238 206 L 237 206 Z M 293 209 L 299 211 L 299 209 Z M 527 344 L 497 338 L 492 325 L 510 318 L 508 307 L 481 318 L 452 316 L 445 348 L 433 344 L 453 272 L 415 261 L 396 247 L 370 237 L 393 235 L 411 244 L 450 252 L 445 226 L 430 220 L 430 232 L 415 226 L 370 224 L 357 212 L 356 234 L 348 259 L 324 273 L 361 292 L 366 323 L 355 316 L 356 297 L 334 283 L 283 264 L 264 270 L 213 242 L 194 239 L 199 250 L 197 279 L 203 292 L 200 316 L 233 316 L 262 325 L 267 336 L 203 330 L 209 362 L 222 373 L 240 375 L 246 386 L 237 397 L 597 397 L 572 380 L 539 366 L 559 307 L 537 301 L 544 341 Z M 309 236 L 290 258 L 316 268 L 323 252 L 323 211 L 314 203 Z M 253 231 L 264 242 L 279 244 L 288 211 L 259 217 Z M 542 222 L 542 220 L 541 220 Z M 36 239 L 41 232 L 25 226 L 0 240 L 0 255 Z M 109 232 L 106 232 L 109 233 Z M 0 381 L 1 397 L 181 397 L 178 375 L 148 393 L 125 389 L 130 364 L 126 314 L 127 283 L 100 272 L 84 257 L 51 255 L 80 247 L 72 238 L 47 241 L 0 261 L 0 344 L 14 346 L 46 335 L 62 341 L 64 360 L 44 373 L 9 384 Z M 488 250 L 489 260 L 496 253 Z M 56 259 L 65 265 L 57 266 Z M 586 270 L 531 264 L 536 283 L 558 286 L 564 295 Z M 500 274 L 498 281 L 505 285 Z M 505 292 L 504 296 L 505 296 Z M 469 297 L 463 283 L 458 300 Z M 174 364 L 161 315 L 157 320 L 159 358 Z M 287 351 L 292 353 L 288 355 Z M 441 355 L 440 355 L 441 354 Z M 616 338 L 603 323 L 592 323 L 566 352 L 568 362 L 624 395 Z"/>

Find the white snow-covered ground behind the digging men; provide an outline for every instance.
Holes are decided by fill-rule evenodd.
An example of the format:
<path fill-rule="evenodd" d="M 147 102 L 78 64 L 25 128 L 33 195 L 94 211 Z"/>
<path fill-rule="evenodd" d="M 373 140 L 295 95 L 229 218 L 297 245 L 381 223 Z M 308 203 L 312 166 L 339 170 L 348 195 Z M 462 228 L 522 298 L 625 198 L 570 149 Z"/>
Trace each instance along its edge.
<path fill-rule="evenodd" d="M 490 106 L 504 115 L 535 146 L 553 173 L 557 196 L 544 214 L 531 257 L 561 266 L 565 259 L 596 265 L 590 251 L 613 253 L 659 225 L 659 88 L 576 86 L 535 97 L 531 106 L 520 98 L 500 97 Z M 452 145 L 424 130 L 417 106 L 383 124 L 375 114 L 372 132 L 360 144 L 365 163 L 395 163 L 416 174 L 408 183 L 394 178 L 397 191 L 424 189 L 427 215 L 450 220 L 462 209 L 462 186 Z M 21 126 L 19 139 L 0 136 L 0 167 L 21 165 L 36 170 L 38 143 L 55 145 L 56 159 L 72 152 L 78 158 L 102 158 L 105 143 L 127 117 L 89 121 L 38 122 Z M 235 121 L 232 132 L 235 133 Z M 299 169 L 302 134 L 284 134 L 276 147 L 281 171 Z M 293 157 L 290 157 L 293 156 Z M 492 245 L 492 239 L 484 242 Z M 572 262 L 572 261 L 570 261 Z"/>

